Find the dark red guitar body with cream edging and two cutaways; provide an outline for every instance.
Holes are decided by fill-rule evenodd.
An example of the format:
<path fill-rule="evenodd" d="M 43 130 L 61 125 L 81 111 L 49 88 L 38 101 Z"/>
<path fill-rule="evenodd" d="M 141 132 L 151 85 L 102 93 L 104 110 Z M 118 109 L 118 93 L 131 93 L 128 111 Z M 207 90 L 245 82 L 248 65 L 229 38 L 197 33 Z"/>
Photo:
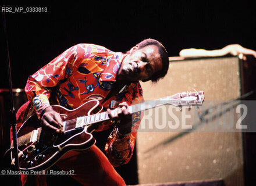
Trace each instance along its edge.
<path fill-rule="evenodd" d="M 88 125 L 76 128 L 76 119 L 79 116 L 101 112 L 102 107 L 98 100 L 88 101 L 74 110 L 68 110 L 58 105 L 54 105 L 52 108 L 60 114 L 63 122 L 69 121 L 65 124 L 66 132 L 61 134 L 44 133 L 39 126 L 40 120 L 35 114 L 26 120 L 17 133 L 21 170 L 48 169 L 66 152 L 88 149 L 95 144 L 93 135 L 90 133 L 93 130 L 92 127 Z M 11 153 L 11 158 L 13 159 L 13 157 Z"/>

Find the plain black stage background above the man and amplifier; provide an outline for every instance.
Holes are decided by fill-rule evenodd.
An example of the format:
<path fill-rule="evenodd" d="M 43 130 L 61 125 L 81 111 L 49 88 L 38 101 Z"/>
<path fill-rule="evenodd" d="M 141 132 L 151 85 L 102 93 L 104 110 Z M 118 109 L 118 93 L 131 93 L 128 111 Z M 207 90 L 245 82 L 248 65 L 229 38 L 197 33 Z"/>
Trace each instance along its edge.
<path fill-rule="evenodd" d="M 184 48 L 211 50 L 229 44 L 256 50 L 255 1 L 2 1 L 0 5 L 48 10 L 5 13 L 13 88 L 24 88 L 27 77 L 79 43 L 126 52 L 141 40 L 154 38 L 169 56 L 179 56 Z M 0 88 L 9 88 L 2 13 L 0 38 Z M 134 166 L 119 171 L 133 174 Z M 128 183 L 135 184 L 134 180 Z"/>

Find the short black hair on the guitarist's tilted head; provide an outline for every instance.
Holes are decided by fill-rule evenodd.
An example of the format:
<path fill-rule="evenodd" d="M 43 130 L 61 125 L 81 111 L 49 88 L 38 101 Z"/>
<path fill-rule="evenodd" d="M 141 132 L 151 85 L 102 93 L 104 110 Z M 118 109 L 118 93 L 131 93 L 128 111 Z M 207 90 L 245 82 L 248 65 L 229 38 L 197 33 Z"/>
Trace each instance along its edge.
<path fill-rule="evenodd" d="M 147 47 L 148 45 L 155 45 L 158 47 L 158 51 L 160 54 L 160 57 L 162 59 L 162 70 L 156 71 L 152 76 L 143 81 L 148 81 L 151 80 L 154 83 L 157 83 L 157 81 L 167 74 L 167 71 L 169 69 L 169 58 L 168 58 L 168 52 L 166 51 L 165 47 L 161 44 L 161 42 L 148 38 L 146 40 L 141 41 L 140 43 L 137 44 L 138 49 Z"/>

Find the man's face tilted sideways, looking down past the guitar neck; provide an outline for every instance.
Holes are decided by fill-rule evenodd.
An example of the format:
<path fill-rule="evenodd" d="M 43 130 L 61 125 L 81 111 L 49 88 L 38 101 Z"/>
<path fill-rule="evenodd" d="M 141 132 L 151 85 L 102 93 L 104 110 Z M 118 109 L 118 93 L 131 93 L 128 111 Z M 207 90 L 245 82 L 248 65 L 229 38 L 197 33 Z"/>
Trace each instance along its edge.
<path fill-rule="evenodd" d="M 136 46 L 131 48 L 130 54 L 123 59 L 118 71 L 118 80 L 128 82 L 147 80 L 161 69 L 162 59 L 157 46 L 148 45 L 140 49 Z"/>

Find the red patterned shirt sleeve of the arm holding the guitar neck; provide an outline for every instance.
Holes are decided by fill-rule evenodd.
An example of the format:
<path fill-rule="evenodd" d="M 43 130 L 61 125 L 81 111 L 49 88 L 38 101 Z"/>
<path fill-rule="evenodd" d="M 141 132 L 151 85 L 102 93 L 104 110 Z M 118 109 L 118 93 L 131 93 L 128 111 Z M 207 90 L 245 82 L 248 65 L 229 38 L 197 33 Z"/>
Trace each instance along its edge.
<path fill-rule="evenodd" d="M 139 83 L 137 84 L 136 88 L 134 88 L 132 95 L 129 96 L 126 102 L 129 105 L 131 105 L 131 103 L 143 102 L 142 88 Z M 122 164 L 126 164 L 131 159 L 131 156 L 133 155 L 137 130 L 140 126 L 142 117 L 143 116 L 141 112 L 133 114 L 131 134 L 123 136 L 115 127 L 111 135 L 109 135 L 105 146 L 105 152 L 113 166 L 117 167 Z"/>

